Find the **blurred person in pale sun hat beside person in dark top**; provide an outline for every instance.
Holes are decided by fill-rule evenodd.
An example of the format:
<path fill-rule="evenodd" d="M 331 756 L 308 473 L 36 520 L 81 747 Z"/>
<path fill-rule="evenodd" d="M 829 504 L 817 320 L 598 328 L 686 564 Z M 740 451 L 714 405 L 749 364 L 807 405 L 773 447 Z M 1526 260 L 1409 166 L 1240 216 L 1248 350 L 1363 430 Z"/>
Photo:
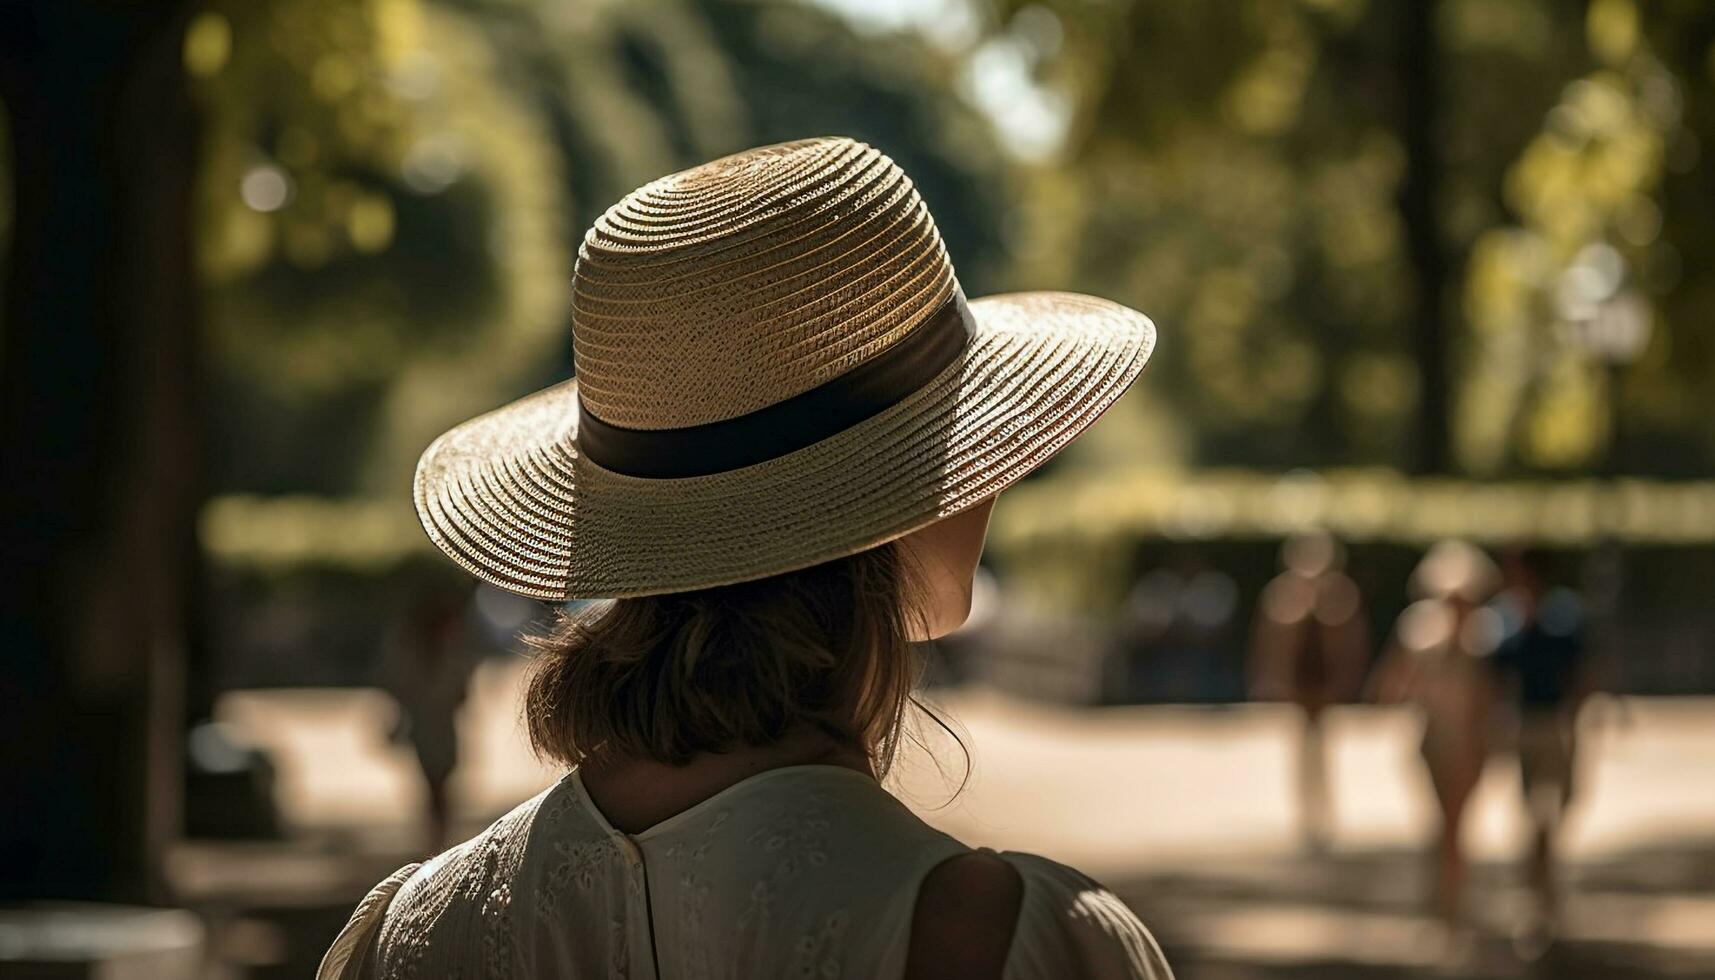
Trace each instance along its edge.
<path fill-rule="evenodd" d="M 1465 541 L 1435 542 L 1411 572 L 1410 596 L 1375 669 L 1381 702 L 1422 709 L 1420 752 L 1441 810 L 1432 906 L 1449 927 L 1463 925 L 1465 807 L 1492 745 L 1495 683 L 1489 666 L 1497 626 L 1483 608 L 1499 587 L 1494 561 Z"/>

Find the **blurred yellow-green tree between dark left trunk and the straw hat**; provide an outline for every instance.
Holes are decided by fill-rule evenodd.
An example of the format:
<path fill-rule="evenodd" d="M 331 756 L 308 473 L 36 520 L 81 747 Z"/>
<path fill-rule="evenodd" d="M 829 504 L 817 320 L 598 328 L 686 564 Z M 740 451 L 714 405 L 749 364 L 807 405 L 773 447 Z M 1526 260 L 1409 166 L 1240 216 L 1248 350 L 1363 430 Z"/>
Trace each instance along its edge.
<path fill-rule="evenodd" d="M 415 0 L 214 3 L 192 24 L 218 486 L 396 487 L 434 431 L 556 360 L 563 161 L 502 64 Z"/>

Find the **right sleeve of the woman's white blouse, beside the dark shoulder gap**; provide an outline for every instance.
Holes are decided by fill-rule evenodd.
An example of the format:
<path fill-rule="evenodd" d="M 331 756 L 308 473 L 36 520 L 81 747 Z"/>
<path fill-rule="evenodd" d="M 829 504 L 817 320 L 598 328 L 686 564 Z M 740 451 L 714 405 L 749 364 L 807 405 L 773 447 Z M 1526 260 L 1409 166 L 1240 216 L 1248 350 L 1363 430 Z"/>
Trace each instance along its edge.
<path fill-rule="evenodd" d="M 1137 915 L 1089 877 L 1036 855 L 1002 855 L 1024 877 L 1005 980 L 1173 980 Z"/>

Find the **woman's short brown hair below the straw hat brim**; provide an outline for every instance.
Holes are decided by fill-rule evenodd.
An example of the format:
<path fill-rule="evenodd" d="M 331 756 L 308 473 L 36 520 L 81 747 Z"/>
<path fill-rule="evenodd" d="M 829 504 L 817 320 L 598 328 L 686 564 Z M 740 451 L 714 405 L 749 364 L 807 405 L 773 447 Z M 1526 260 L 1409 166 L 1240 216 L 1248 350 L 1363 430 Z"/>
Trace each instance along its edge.
<path fill-rule="evenodd" d="M 535 649 L 525 719 L 542 757 L 576 765 L 768 745 L 811 724 L 894 760 L 914 704 L 923 578 L 888 542 L 756 582 L 616 599 L 563 614 Z"/>

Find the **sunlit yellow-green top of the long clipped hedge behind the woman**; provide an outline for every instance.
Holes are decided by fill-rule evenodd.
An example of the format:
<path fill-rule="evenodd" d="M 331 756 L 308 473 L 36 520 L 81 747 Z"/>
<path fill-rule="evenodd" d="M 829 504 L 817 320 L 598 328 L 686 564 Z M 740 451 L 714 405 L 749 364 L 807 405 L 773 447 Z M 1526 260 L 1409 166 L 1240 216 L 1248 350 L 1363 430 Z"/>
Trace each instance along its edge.
<path fill-rule="evenodd" d="M 1115 470 L 1017 486 L 995 510 L 991 551 L 1142 539 L 1274 539 L 1326 527 L 1355 542 L 1422 546 L 1441 537 L 1552 547 L 1715 542 L 1715 482 L 1406 477 L 1393 470 Z M 429 541 L 405 499 L 220 496 L 201 541 L 230 566 L 382 570 Z"/>

